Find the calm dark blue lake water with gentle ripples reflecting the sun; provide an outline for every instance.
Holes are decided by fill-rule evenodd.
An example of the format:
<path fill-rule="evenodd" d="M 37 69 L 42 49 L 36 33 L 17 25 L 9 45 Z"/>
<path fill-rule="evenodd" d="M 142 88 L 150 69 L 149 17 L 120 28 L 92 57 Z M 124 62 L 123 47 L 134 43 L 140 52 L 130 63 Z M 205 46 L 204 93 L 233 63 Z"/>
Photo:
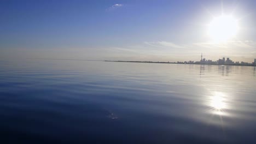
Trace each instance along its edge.
<path fill-rule="evenodd" d="M 255 143 L 255 67 L 0 61 L 5 143 Z"/>

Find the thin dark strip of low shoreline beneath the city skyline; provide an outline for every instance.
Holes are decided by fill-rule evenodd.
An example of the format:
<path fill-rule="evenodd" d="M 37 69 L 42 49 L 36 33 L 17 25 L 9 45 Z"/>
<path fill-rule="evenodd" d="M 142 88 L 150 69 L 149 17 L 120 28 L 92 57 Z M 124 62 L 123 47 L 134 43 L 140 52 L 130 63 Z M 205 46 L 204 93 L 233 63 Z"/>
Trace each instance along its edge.
<path fill-rule="evenodd" d="M 184 62 L 151 62 L 151 61 L 104 61 L 104 62 L 127 62 L 127 63 L 170 63 L 170 64 L 196 64 L 196 65 L 236 65 L 236 66 L 250 66 L 256 67 L 256 65 L 243 65 L 243 64 L 201 64 L 201 63 L 184 63 Z"/>

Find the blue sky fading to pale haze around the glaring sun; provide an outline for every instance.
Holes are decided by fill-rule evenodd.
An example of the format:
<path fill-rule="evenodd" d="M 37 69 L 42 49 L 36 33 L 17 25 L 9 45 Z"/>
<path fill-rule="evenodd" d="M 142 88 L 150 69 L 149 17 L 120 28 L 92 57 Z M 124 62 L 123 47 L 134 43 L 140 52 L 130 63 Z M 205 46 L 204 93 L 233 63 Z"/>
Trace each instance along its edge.
<path fill-rule="evenodd" d="M 131 61 L 256 58 L 255 1 L 0 2 L 0 56 Z M 236 38 L 211 43 L 213 16 L 239 19 Z"/>

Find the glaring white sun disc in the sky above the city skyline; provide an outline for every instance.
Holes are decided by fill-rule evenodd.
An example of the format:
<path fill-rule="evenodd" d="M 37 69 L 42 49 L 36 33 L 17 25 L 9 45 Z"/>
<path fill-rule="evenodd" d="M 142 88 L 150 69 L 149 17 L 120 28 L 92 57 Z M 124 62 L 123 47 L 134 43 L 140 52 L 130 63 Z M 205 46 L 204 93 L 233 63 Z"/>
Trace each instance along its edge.
<path fill-rule="evenodd" d="M 238 22 L 232 15 L 214 17 L 208 26 L 208 35 L 213 41 L 226 41 L 237 34 Z"/>

